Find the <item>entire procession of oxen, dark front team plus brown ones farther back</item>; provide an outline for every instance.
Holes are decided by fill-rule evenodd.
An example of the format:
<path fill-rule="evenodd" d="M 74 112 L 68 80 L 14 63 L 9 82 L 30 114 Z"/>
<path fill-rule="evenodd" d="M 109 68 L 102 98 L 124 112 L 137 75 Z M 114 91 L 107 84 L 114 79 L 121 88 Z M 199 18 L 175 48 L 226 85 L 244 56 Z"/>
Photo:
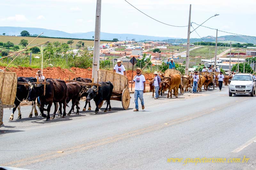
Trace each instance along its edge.
<path fill-rule="evenodd" d="M 215 73 L 216 74 L 216 73 Z M 162 96 L 162 93 L 168 90 L 167 98 L 172 98 L 172 90 L 173 95 L 178 97 L 178 89 L 180 88 L 180 93 L 183 92 L 191 92 L 193 86 L 193 75 L 189 76 L 181 76 L 180 74 L 170 74 L 168 77 L 165 77 L 164 74 L 159 74 L 161 78 L 161 88 L 159 89 L 158 93 Z M 214 73 L 203 72 L 199 75 L 199 83 L 197 91 L 202 91 L 202 87 L 204 86 L 204 90 L 207 91 L 210 86 L 218 86 L 218 81 L 215 79 Z M 148 79 L 150 92 L 153 92 L 152 97 L 154 97 L 154 86 L 153 80 Z M 225 76 L 224 84 L 228 85 L 228 80 L 231 79 L 228 76 Z M 73 79 L 75 80 L 75 78 Z M 16 107 L 13 108 L 12 114 L 10 116 L 10 120 L 13 120 L 14 112 L 18 108 L 18 119 L 21 119 L 21 112 L 20 112 L 20 102 L 23 100 L 32 101 L 32 109 L 29 114 L 29 117 L 32 117 L 33 110 L 35 116 L 38 115 L 36 110 L 36 103 L 40 109 L 40 115 L 46 118 L 46 121 L 49 119 L 54 119 L 56 112 L 58 111 L 58 104 L 59 104 L 59 115 L 65 117 L 66 116 L 66 106 L 67 103 L 72 100 L 71 108 L 68 112 L 68 115 L 71 114 L 72 110 L 74 111 L 74 107 L 76 106 L 76 114 L 79 114 L 79 101 L 82 97 L 86 97 L 85 106 L 83 111 L 86 110 L 87 104 L 89 104 L 88 110 L 91 110 L 90 101 L 93 99 L 96 105 L 95 113 L 99 111 L 99 105 L 102 103 L 103 100 L 106 100 L 107 107 L 104 112 L 111 110 L 110 106 L 110 97 L 113 91 L 113 85 L 111 82 L 99 82 L 101 86 L 84 86 L 80 85 L 77 82 L 81 83 L 92 83 L 92 80 L 89 78 L 76 78 L 77 82 L 69 82 L 66 83 L 64 80 L 60 79 L 53 79 L 53 78 L 46 78 L 46 82 L 49 82 L 44 89 L 44 85 L 36 84 L 36 78 L 32 77 L 18 77 L 18 82 L 25 82 L 28 85 L 17 85 L 17 92 L 14 104 Z M 45 93 L 45 94 L 44 94 Z M 170 95 L 169 95 L 170 94 Z M 37 102 L 36 102 L 37 101 Z M 52 117 L 50 117 L 50 109 L 54 104 L 54 112 Z M 47 106 L 48 105 L 48 106 Z M 45 109 L 44 106 L 47 106 Z M 62 108 L 63 107 L 63 114 Z M 47 115 L 44 114 L 44 111 L 47 111 Z"/>

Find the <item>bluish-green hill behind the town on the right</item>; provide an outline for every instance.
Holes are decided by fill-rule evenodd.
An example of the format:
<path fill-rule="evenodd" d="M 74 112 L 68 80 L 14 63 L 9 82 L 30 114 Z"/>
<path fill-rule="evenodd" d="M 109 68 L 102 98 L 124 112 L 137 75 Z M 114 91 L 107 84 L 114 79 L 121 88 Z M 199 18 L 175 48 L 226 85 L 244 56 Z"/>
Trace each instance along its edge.
<path fill-rule="evenodd" d="M 233 37 L 233 35 L 225 35 L 225 36 L 220 36 L 218 37 L 218 41 L 226 41 L 230 37 Z M 215 42 L 215 37 L 213 36 L 207 36 L 207 37 L 202 37 L 202 39 L 206 42 Z M 203 41 L 201 38 L 191 38 L 190 43 L 196 43 Z M 242 43 L 252 43 L 256 44 L 256 38 L 255 37 L 247 37 L 247 36 L 235 36 L 233 38 L 229 39 L 230 41 L 239 41 Z M 166 39 L 163 41 L 167 41 L 169 43 L 187 43 L 187 39 Z M 227 42 L 230 42 L 227 41 Z"/>

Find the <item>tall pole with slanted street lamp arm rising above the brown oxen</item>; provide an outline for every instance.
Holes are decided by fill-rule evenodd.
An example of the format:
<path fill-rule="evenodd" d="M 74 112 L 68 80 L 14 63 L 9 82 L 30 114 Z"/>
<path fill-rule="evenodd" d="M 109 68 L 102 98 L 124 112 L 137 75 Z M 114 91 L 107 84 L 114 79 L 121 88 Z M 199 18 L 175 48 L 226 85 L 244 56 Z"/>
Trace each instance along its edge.
<path fill-rule="evenodd" d="M 215 14 L 214 16 L 212 17 L 215 17 L 215 16 L 218 16 L 220 14 Z M 212 18 L 210 17 L 210 18 Z M 208 18 L 206 21 L 208 21 L 210 18 Z M 190 7 L 189 7 L 189 19 L 188 19 L 188 39 L 187 39 L 187 56 L 186 56 L 186 69 L 185 69 L 185 75 L 188 75 L 188 67 L 189 67 L 189 39 L 190 39 L 190 33 L 192 33 L 193 31 L 195 31 L 199 26 L 203 25 L 206 21 L 204 21 L 201 25 L 199 25 L 198 27 L 196 27 L 196 29 L 194 29 L 193 31 L 190 32 L 190 26 L 191 26 L 191 23 L 190 23 L 190 19 L 191 19 L 191 4 L 190 4 Z"/>

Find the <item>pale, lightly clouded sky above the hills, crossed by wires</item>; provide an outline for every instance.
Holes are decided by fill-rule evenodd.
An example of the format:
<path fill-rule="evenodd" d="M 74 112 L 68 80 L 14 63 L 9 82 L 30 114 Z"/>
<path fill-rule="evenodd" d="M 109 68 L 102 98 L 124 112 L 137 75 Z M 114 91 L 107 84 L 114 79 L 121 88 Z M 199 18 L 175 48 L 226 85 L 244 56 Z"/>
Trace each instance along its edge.
<path fill-rule="evenodd" d="M 191 22 L 243 35 L 256 36 L 255 0 L 127 0 L 133 6 L 161 22 L 188 26 Z M 86 33 L 95 29 L 96 0 L 0 0 L 1 26 L 36 27 Z M 194 28 L 197 26 L 192 24 Z M 124 0 L 101 1 L 101 32 L 187 38 L 188 27 L 159 23 L 137 11 Z M 193 28 L 191 27 L 191 31 Z M 216 30 L 199 27 L 201 37 L 216 36 Z M 196 32 L 191 38 L 200 38 Z M 218 36 L 229 35 L 218 32 Z"/>

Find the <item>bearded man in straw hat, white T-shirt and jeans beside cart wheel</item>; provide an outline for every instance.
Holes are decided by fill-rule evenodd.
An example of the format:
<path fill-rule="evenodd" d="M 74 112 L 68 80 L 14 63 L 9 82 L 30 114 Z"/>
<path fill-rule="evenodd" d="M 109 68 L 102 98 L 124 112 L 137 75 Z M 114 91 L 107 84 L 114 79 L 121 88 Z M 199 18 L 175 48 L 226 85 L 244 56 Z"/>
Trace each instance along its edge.
<path fill-rule="evenodd" d="M 132 81 L 129 81 L 129 83 L 132 83 L 132 84 L 135 82 L 135 88 L 134 88 L 135 109 L 133 111 L 139 111 L 138 98 L 140 98 L 142 110 L 145 108 L 143 93 L 146 92 L 146 79 L 142 75 L 142 70 L 140 68 L 136 69 L 136 73 L 137 75 L 132 79 Z"/>

